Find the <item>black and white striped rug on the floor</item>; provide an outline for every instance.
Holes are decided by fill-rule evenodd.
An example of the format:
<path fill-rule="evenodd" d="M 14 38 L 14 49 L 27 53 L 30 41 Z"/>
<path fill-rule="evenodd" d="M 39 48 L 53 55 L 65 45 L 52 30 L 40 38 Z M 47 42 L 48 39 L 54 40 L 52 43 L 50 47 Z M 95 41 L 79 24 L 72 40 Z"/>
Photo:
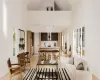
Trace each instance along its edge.
<path fill-rule="evenodd" d="M 71 80 L 65 68 L 29 69 L 23 80 Z"/>

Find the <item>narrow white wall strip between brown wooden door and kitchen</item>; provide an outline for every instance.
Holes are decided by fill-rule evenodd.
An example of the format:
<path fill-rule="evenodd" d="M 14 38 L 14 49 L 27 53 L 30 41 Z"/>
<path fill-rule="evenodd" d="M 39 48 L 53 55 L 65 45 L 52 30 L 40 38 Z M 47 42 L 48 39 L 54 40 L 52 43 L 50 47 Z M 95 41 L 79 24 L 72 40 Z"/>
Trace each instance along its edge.
<path fill-rule="evenodd" d="M 38 54 L 39 50 L 39 33 L 34 33 L 34 54 Z"/>

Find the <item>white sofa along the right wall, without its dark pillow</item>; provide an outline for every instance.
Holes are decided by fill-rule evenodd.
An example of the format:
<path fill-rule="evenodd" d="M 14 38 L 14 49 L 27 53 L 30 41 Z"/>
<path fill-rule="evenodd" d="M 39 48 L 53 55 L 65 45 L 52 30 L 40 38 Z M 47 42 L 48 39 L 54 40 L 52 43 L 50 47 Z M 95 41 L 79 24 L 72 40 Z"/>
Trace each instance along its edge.
<path fill-rule="evenodd" d="M 74 65 L 69 64 L 69 59 L 65 58 L 61 60 L 61 67 L 64 67 L 68 70 L 68 74 L 71 78 L 71 80 L 90 80 L 90 74 L 89 71 L 87 70 L 87 63 L 79 57 L 74 57 Z M 80 63 L 83 62 L 84 65 L 84 70 L 76 70 L 76 66 Z"/>

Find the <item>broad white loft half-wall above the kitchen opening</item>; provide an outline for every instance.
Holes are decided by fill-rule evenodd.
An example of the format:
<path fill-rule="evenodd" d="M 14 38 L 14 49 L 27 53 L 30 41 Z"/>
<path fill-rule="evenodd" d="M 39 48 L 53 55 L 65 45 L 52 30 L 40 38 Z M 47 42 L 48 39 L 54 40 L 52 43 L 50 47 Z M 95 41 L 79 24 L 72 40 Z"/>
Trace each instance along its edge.
<path fill-rule="evenodd" d="M 33 31 L 61 32 L 71 24 L 71 11 L 28 11 L 28 28 Z M 47 26 L 54 26 L 47 28 Z"/>

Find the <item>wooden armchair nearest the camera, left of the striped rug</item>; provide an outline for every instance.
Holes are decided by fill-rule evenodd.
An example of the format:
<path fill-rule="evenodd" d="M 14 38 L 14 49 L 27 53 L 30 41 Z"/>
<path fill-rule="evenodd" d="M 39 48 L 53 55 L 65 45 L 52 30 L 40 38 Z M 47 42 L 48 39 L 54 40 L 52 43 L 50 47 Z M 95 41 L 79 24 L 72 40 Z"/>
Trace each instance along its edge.
<path fill-rule="evenodd" d="M 11 64 L 10 58 L 7 61 L 8 64 L 8 69 L 9 69 L 9 74 L 10 74 L 10 80 L 12 79 L 13 76 L 21 74 L 22 78 L 22 70 L 19 64 Z M 16 67 L 13 67 L 17 65 Z"/>

